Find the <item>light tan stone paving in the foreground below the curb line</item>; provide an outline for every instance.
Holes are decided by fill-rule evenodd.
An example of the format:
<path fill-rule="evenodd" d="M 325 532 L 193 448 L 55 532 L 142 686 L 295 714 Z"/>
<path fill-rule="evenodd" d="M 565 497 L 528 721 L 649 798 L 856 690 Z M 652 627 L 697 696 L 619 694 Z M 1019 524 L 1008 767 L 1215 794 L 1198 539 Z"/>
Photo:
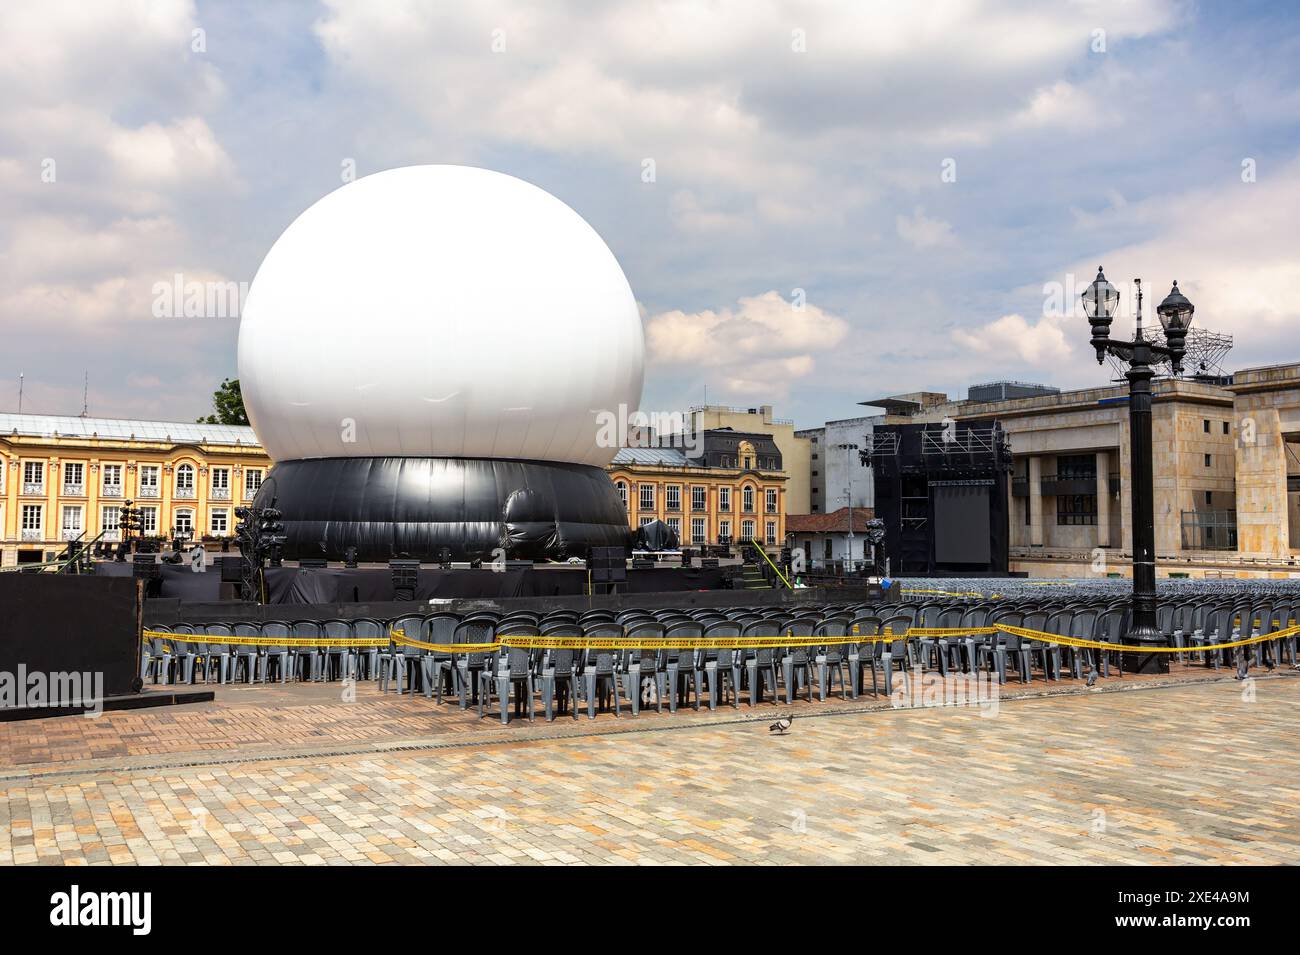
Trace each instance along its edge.
<path fill-rule="evenodd" d="M 1295 864 L 1297 712 L 1300 678 L 1278 674 L 996 713 L 805 708 L 785 737 L 706 713 L 329 758 L 38 764 L 0 782 L 0 863 Z"/>

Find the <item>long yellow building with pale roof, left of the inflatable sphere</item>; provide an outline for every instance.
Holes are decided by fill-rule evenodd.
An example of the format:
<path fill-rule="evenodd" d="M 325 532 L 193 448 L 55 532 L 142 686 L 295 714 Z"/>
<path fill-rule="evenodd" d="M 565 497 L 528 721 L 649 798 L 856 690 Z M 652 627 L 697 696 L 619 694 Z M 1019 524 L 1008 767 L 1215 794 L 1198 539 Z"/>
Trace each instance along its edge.
<path fill-rule="evenodd" d="M 125 500 L 144 534 L 234 537 L 270 460 L 251 427 L 0 414 L 0 564 L 38 563 L 81 537 L 118 539 Z"/>

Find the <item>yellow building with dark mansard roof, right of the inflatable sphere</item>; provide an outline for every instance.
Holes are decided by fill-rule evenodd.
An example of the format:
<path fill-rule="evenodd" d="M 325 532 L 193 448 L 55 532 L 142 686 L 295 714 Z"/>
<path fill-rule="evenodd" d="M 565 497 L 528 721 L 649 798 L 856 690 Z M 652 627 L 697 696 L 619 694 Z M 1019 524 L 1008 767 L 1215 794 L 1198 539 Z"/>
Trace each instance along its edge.
<path fill-rule="evenodd" d="M 693 456 L 675 447 L 623 448 L 607 470 L 633 530 L 660 520 L 682 547 L 784 543 L 786 476 L 771 435 L 705 431 Z"/>

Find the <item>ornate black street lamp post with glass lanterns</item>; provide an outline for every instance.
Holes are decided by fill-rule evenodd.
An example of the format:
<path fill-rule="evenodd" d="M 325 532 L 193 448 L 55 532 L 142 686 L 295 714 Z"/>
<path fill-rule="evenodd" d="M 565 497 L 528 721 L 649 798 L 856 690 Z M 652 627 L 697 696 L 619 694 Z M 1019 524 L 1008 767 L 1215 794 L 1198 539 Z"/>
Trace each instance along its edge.
<path fill-rule="evenodd" d="M 1183 370 L 1184 342 L 1187 329 L 1196 311 L 1192 303 L 1178 291 L 1165 296 L 1156 309 L 1165 327 L 1166 344 L 1147 340 L 1141 327 L 1141 279 L 1138 285 L 1138 327 L 1132 342 L 1117 342 L 1110 338 L 1110 322 L 1119 304 L 1119 292 L 1106 281 L 1101 269 L 1097 278 L 1083 292 L 1083 311 L 1092 325 L 1092 346 L 1097 350 L 1097 364 L 1105 361 L 1108 353 L 1128 365 L 1124 377 L 1128 378 L 1128 442 L 1130 442 L 1130 482 L 1132 496 L 1132 541 L 1134 541 L 1134 612 L 1127 642 L 1164 646 L 1165 639 L 1156 628 L 1156 505 L 1152 482 L 1152 438 L 1150 438 L 1150 379 L 1154 376 L 1152 365 L 1167 359 L 1173 373 Z M 1127 660 L 1126 660 L 1127 663 Z M 1165 654 L 1139 654 L 1131 661 L 1131 669 L 1138 673 L 1167 673 L 1169 660 Z"/>

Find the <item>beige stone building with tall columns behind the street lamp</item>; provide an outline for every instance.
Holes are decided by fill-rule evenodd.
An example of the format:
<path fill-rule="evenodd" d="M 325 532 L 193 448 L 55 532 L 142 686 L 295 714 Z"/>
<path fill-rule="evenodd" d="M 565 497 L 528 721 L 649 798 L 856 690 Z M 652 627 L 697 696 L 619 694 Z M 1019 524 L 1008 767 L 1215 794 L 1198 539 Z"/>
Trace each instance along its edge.
<path fill-rule="evenodd" d="M 993 401 L 900 395 L 885 424 L 997 421 L 1011 444 L 1011 569 L 1032 577 L 1131 573 L 1128 388 Z M 1160 573 L 1300 573 L 1300 364 L 1230 383 L 1153 386 Z"/>

